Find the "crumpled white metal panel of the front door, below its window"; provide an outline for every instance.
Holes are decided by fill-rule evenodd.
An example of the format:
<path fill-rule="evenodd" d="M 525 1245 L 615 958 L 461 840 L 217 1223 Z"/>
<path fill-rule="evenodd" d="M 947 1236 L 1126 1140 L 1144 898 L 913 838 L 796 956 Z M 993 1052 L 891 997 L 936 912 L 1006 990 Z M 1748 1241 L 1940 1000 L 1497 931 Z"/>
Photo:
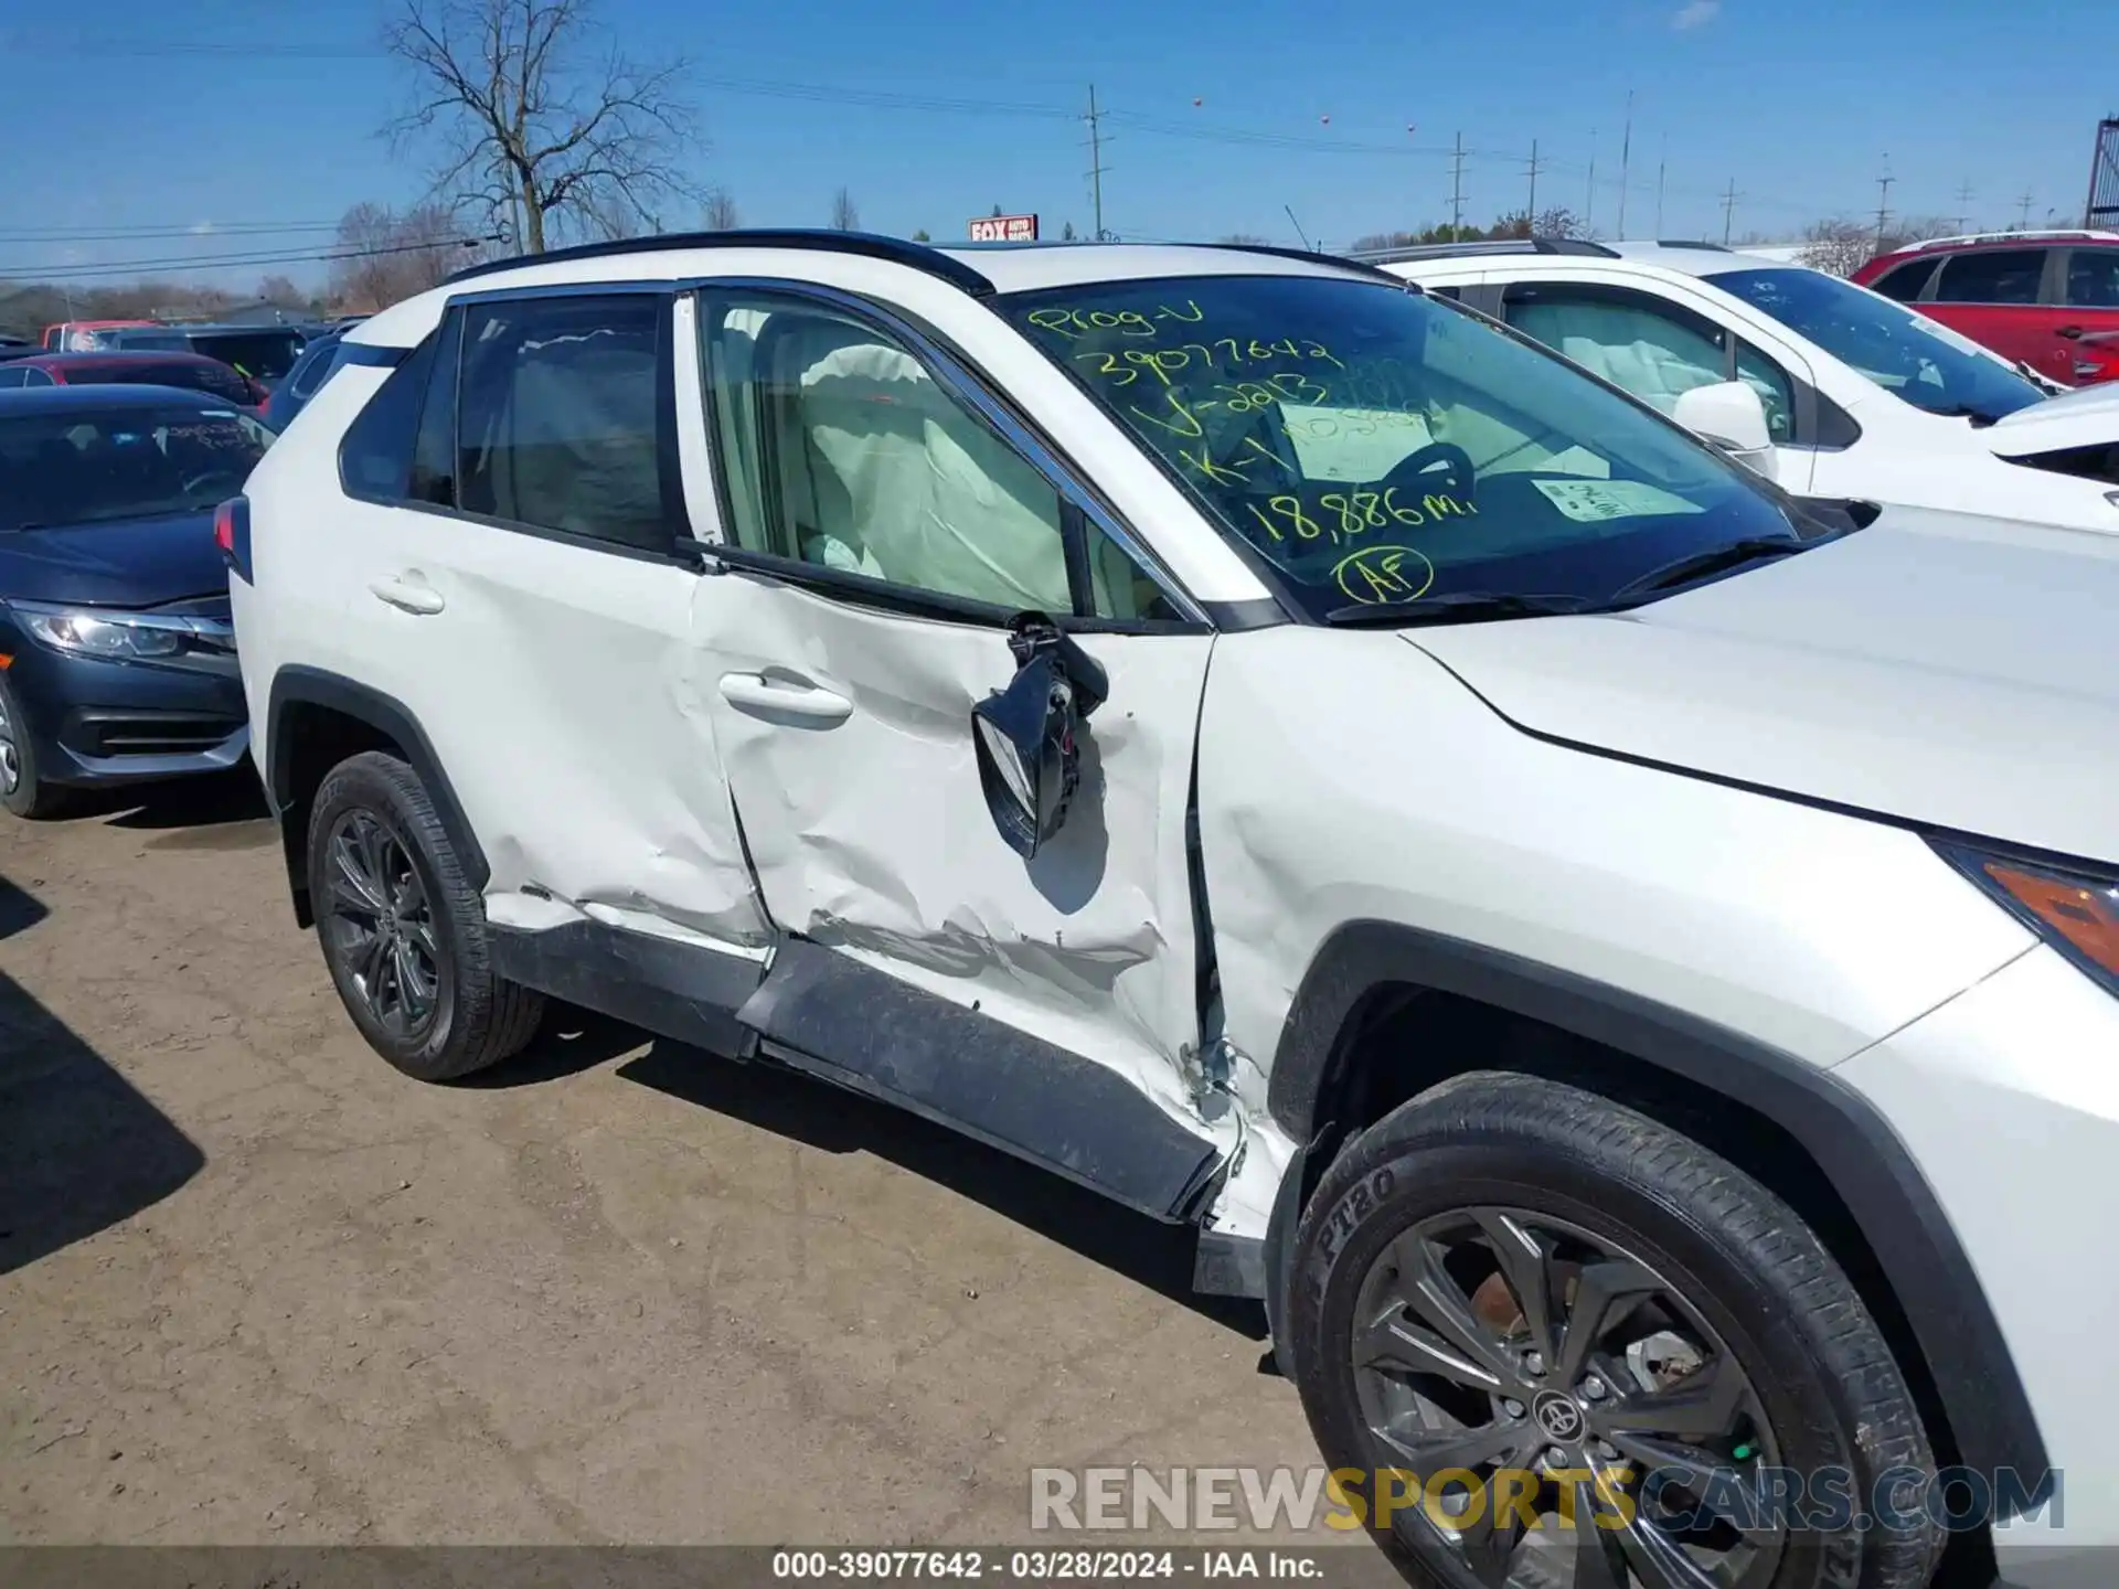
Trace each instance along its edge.
<path fill-rule="evenodd" d="M 1210 636 L 1083 636 L 1110 669 L 1066 828 L 1032 862 L 994 833 L 971 706 L 1015 674 L 992 627 L 704 578 L 699 695 L 773 920 L 1132 1078 L 1195 1119 L 1185 805 Z M 790 710 L 720 678 L 767 678 Z M 816 701 L 848 706 L 833 718 Z"/>

